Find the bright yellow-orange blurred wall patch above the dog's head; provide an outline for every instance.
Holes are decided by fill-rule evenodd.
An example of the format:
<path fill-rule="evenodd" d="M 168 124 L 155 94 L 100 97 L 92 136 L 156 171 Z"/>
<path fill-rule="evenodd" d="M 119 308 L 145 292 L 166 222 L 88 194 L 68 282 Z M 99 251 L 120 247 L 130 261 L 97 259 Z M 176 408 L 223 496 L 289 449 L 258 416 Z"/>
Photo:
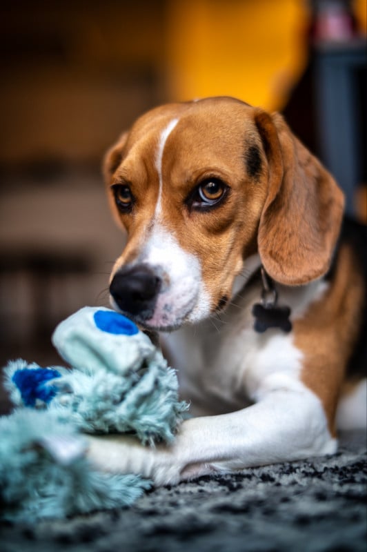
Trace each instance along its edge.
<path fill-rule="evenodd" d="M 170 95 L 229 95 L 284 106 L 308 55 L 308 4 L 299 0 L 169 3 Z"/>

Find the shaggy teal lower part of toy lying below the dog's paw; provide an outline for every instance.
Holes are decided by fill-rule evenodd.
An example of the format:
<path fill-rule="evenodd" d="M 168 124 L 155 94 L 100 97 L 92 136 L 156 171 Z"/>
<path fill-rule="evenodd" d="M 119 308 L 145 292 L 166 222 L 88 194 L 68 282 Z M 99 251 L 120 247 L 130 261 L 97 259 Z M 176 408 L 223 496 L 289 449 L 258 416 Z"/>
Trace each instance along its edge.
<path fill-rule="evenodd" d="M 151 484 L 96 471 L 86 439 L 51 411 L 0 417 L 0 519 L 34 523 L 132 504 Z"/>

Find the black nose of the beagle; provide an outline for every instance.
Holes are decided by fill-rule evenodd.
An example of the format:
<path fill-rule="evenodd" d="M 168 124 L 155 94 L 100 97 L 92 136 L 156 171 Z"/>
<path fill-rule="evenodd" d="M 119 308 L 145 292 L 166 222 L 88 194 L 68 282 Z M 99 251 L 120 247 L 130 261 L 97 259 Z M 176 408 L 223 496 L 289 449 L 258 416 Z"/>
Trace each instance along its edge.
<path fill-rule="evenodd" d="M 122 268 L 110 284 L 110 294 L 121 311 L 146 320 L 152 317 L 161 278 L 144 264 Z"/>

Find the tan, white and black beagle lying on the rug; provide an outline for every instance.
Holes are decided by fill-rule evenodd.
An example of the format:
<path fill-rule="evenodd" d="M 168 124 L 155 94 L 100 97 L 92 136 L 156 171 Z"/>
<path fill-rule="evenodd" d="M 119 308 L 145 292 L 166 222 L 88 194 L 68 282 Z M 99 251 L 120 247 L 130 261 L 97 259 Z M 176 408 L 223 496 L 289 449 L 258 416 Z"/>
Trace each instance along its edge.
<path fill-rule="evenodd" d="M 335 453 L 337 421 L 366 420 L 366 380 L 348 377 L 366 232 L 330 173 L 281 115 L 216 97 L 141 116 L 104 176 L 128 235 L 112 306 L 163 337 L 193 417 L 170 446 L 90 437 L 90 460 L 162 485 Z"/>

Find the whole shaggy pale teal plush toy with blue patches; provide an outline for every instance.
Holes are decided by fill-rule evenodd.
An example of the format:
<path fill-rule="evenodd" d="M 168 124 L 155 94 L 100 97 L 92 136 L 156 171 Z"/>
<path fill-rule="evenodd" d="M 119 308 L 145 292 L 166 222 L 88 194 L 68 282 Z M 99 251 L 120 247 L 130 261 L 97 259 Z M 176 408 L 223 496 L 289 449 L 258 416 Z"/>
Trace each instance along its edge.
<path fill-rule="evenodd" d="M 52 342 L 71 368 L 19 359 L 5 368 L 17 406 L 0 418 L 2 517 L 34 522 L 131 504 L 150 482 L 101 473 L 83 433 L 133 433 L 146 446 L 172 442 L 188 405 L 161 352 L 133 322 L 82 308 Z"/>

